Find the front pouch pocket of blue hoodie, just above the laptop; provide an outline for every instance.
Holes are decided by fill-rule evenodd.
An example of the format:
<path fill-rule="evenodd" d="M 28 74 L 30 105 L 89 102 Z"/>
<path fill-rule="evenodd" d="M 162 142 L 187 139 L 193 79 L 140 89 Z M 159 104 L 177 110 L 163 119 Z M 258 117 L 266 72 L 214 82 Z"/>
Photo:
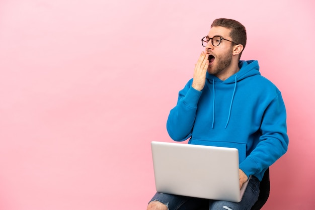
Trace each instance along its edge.
<path fill-rule="evenodd" d="M 239 163 L 242 163 L 246 158 L 246 144 L 242 142 L 227 142 L 227 141 L 217 142 L 217 141 L 191 139 L 189 143 L 197 144 L 197 145 L 214 146 L 214 147 L 236 148 L 239 150 Z"/>

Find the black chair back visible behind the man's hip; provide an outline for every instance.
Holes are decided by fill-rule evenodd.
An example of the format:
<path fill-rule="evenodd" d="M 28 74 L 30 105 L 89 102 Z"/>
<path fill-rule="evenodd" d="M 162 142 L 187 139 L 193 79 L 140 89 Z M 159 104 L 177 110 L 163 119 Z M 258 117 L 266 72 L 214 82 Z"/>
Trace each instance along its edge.
<path fill-rule="evenodd" d="M 270 193 L 269 168 L 265 171 L 262 181 L 259 185 L 259 197 L 251 210 L 259 210 L 267 202 Z"/>

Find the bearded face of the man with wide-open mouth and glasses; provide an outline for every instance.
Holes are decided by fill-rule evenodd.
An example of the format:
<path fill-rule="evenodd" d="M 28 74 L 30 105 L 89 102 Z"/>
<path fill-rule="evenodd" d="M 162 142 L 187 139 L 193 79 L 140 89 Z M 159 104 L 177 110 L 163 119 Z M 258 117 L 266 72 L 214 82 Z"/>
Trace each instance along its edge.
<path fill-rule="evenodd" d="M 224 39 L 232 41 L 229 37 L 230 29 L 223 27 L 212 27 L 208 37 L 219 36 Z M 206 45 L 206 52 L 209 54 L 208 73 L 219 75 L 224 73 L 232 61 L 232 46 L 233 44 L 226 40 L 221 40 L 218 46 L 213 46 L 211 41 Z"/>

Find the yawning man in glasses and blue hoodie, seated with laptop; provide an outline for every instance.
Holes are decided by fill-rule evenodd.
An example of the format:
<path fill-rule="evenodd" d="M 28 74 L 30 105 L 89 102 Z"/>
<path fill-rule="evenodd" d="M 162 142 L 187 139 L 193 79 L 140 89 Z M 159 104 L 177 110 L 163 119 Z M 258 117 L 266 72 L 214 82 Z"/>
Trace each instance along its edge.
<path fill-rule="evenodd" d="M 251 209 L 266 169 L 288 146 L 281 92 L 260 75 L 258 61 L 240 61 L 246 29 L 234 20 L 216 19 L 202 39 L 193 79 L 179 92 L 167 130 L 175 141 L 239 150 L 240 187 L 252 175 L 239 203 L 156 193 L 147 209 Z"/>

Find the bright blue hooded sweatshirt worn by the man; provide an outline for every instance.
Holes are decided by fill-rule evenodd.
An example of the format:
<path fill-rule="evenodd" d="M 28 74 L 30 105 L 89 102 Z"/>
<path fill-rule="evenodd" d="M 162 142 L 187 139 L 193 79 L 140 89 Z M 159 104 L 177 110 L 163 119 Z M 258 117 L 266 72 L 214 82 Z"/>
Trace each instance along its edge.
<path fill-rule="evenodd" d="M 258 61 L 240 61 L 222 81 L 207 73 L 202 91 L 189 80 L 171 110 L 167 130 L 175 141 L 239 150 L 240 169 L 262 179 L 288 147 L 286 111 L 279 89 L 260 75 Z"/>

